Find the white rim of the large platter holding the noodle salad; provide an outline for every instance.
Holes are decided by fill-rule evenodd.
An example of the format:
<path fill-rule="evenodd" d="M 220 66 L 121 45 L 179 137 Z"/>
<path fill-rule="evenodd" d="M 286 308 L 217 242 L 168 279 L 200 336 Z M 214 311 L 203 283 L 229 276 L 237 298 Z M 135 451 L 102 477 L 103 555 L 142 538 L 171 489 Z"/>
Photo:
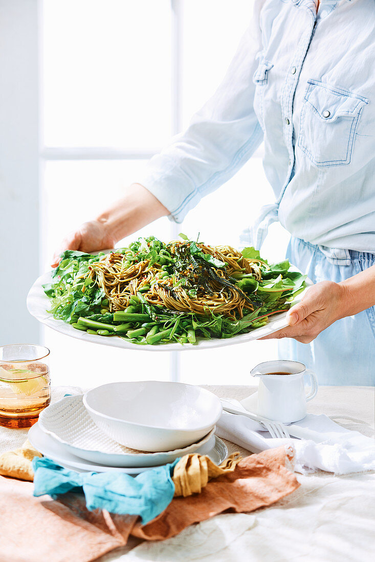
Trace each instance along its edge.
<path fill-rule="evenodd" d="M 111 250 L 109 250 L 111 251 Z M 292 271 L 299 271 L 297 268 L 291 267 Z M 53 315 L 47 312 L 47 310 L 51 306 L 51 301 L 47 297 L 46 293 L 43 291 L 42 285 L 52 282 L 51 271 L 44 273 L 39 277 L 35 283 L 33 284 L 32 288 L 29 291 L 27 297 L 27 307 L 30 312 L 49 328 L 56 330 L 56 332 L 60 332 L 61 334 L 66 334 L 66 336 L 71 336 L 76 339 L 83 339 L 86 342 L 91 343 L 101 343 L 105 346 L 111 347 L 120 347 L 123 349 L 128 350 L 140 350 L 140 351 L 193 351 L 193 350 L 203 350 L 203 349 L 210 349 L 212 347 L 224 347 L 224 346 L 234 346 L 237 343 L 246 343 L 251 342 L 254 339 L 263 338 L 264 336 L 269 336 L 269 334 L 273 334 L 282 328 L 286 328 L 287 323 L 287 311 L 280 312 L 279 314 L 275 314 L 270 317 L 270 321 L 265 326 L 260 328 L 256 328 L 247 334 L 239 334 L 239 336 L 233 336 L 233 338 L 212 338 L 212 339 L 198 339 L 195 345 L 191 343 L 185 343 L 181 345 L 180 343 L 164 343 L 159 345 L 137 345 L 136 343 L 127 342 L 125 339 L 122 339 L 117 336 L 111 337 L 104 337 L 104 336 L 97 336 L 96 334 L 88 334 L 87 332 L 83 332 L 82 330 L 77 330 L 73 328 L 70 324 L 66 324 L 63 320 L 57 320 L 53 318 Z M 300 302 L 303 294 L 305 294 L 307 288 L 312 285 L 312 281 L 310 279 L 306 279 L 306 288 L 303 292 L 298 294 L 296 300 L 293 301 L 293 304 Z"/>

